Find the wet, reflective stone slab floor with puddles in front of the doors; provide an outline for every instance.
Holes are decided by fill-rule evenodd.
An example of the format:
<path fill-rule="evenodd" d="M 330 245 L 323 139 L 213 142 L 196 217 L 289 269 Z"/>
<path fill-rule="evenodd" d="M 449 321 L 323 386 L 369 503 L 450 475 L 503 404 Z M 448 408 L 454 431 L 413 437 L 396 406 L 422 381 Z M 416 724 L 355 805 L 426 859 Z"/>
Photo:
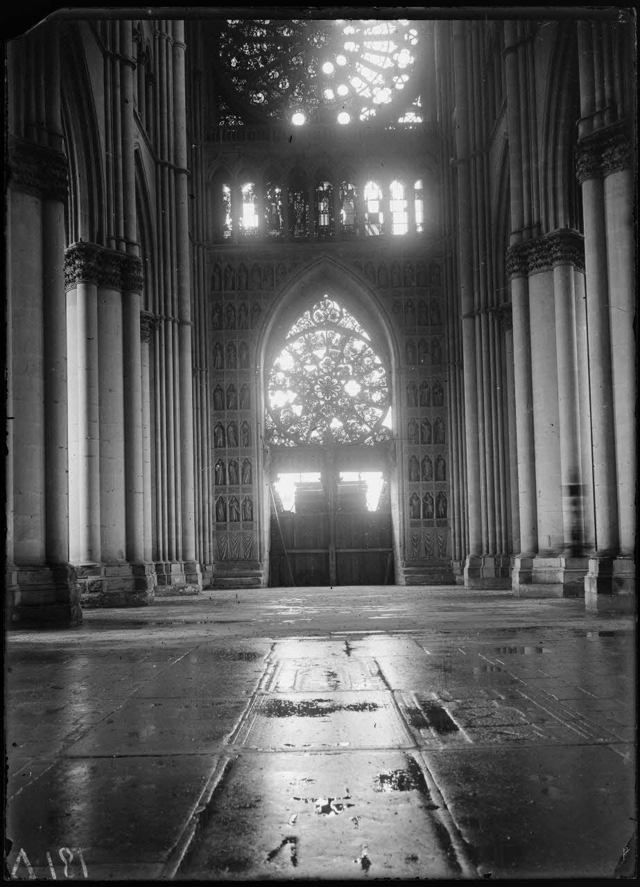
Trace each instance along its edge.
<path fill-rule="evenodd" d="M 635 629 L 580 600 L 377 586 L 13 632 L 8 875 L 631 876 Z"/>

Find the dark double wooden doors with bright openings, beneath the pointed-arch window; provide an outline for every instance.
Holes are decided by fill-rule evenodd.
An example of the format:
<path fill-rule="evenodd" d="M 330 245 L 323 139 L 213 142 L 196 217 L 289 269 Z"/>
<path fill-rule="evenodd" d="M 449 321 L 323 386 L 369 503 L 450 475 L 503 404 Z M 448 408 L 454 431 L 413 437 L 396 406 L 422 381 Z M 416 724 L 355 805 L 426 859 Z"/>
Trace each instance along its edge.
<path fill-rule="evenodd" d="M 386 446 L 324 446 L 272 451 L 271 579 L 278 585 L 389 585 L 393 582 Z M 278 476 L 301 472 L 295 510 L 282 508 Z M 375 510 L 358 475 L 378 473 Z"/>

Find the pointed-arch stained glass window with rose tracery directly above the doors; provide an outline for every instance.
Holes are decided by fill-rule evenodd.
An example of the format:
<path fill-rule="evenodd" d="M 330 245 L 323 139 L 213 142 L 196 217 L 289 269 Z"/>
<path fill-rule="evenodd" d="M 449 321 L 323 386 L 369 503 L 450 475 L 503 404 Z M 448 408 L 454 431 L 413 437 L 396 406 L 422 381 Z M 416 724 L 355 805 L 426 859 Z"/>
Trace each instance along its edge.
<path fill-rule="evenodd" d="M 289 330 L 268 381 L 272 443 L 375 443 L 390 436 L 387 374 L 367 332 L 327 295 Z"/>

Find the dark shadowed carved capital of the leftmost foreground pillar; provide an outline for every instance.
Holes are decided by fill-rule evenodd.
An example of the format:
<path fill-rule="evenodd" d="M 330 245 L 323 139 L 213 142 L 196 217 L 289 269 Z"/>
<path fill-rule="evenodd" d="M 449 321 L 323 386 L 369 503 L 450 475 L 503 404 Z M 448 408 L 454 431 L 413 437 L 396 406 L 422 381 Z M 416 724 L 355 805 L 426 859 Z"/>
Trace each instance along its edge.
<path fill-rule="evenodd" d="M 60 151 L 9 137 L 9 184 L 40 200 L 67 200 L 67 157 Z"/>

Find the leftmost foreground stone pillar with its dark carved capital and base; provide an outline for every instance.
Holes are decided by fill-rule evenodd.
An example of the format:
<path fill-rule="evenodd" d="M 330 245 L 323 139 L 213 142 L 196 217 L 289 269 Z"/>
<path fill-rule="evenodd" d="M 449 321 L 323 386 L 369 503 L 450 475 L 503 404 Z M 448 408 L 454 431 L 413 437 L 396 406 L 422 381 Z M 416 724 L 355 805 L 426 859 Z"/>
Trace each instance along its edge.
<path fill-rule="evenodd" d="M 55 62 L 57 46 L 52 38 L 47 62 Z M 46 71 L 55 75 L 51 65 Z M 51 147 L 11 137 L 9 174 L 8 624 L 70 627 L 82 623 L 82 609 L 68 557 L 67 159 Z"/>

